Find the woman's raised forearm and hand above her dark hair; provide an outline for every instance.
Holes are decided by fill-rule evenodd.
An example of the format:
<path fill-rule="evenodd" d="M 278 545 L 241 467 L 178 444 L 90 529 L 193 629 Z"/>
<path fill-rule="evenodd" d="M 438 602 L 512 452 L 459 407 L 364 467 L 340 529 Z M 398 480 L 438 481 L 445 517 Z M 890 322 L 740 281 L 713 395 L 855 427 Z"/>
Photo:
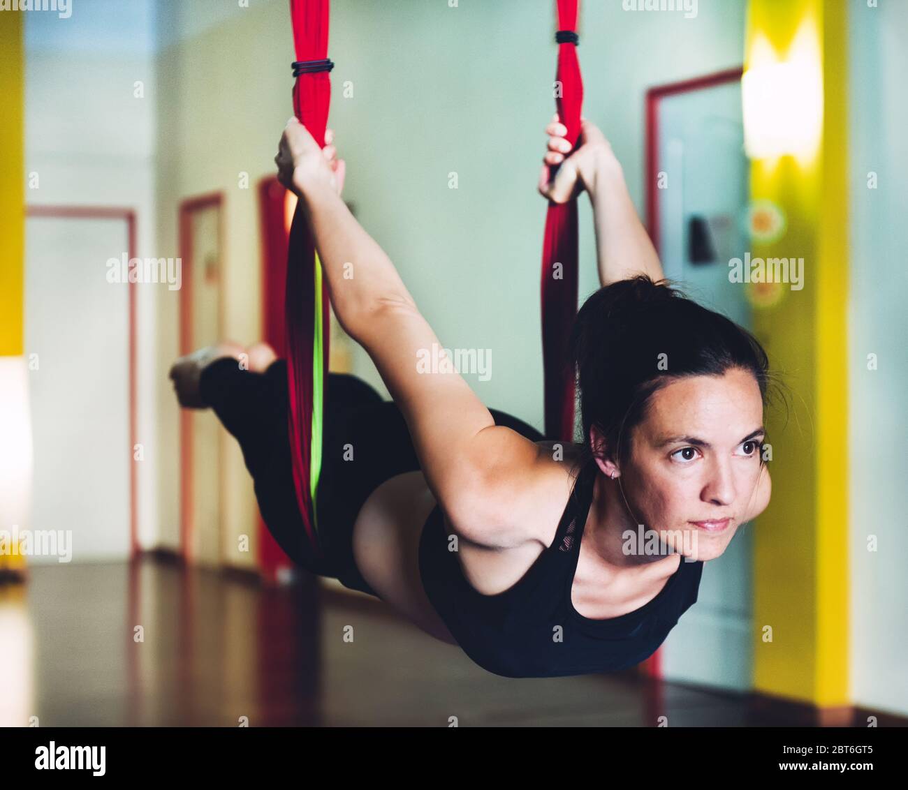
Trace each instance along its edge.
<path fill-rule="evenodd" d="M 581 144 L 573 153 L 564 138 L 568 130 L 558 122 L 557 114 L 546 127 L 548 152 L 539 173 L 539 191 L 557 203 L 576 198 L 583 190 L 589 193 L 601 285 L 637 274 L 648 274 L 654 280 L 663 278 L 662 264 L 637 217 L 620 162 L 597 126 L 586 118 L 581 123 Z M 558 165 L 551 181 L 550 165 Z"/>

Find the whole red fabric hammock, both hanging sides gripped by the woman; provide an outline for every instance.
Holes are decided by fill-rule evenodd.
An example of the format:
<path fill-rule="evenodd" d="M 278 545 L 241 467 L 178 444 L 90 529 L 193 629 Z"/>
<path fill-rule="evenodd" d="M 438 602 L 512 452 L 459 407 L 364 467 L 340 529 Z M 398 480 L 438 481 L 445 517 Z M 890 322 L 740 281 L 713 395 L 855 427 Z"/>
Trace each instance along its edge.
<path fill-rule="evenodd" d="M 558 2 L 558 117 L 575 145 L 580 133 L 583 83 L 577 62 L 578 0 Z M 301 71 L 293 87 L 293 109 L 314 140 L 324 147 L 331 79 L 328 60 L 329 0 L 290 0 L 293 41 Z M 317 71 L 310 71 L 312 62 Z M 301 63 L 304 64 L 301 66 Z M 550 171 L 554 175 L 557 167 Z M 331 307 L 327 282 L 305 217 L 298 207 L 291 225 L 285 303 L 287 387 L 293 483 L 312 548 L 322 556 L 315 517 L 321 470 L 321 415 L 327 397 Z M 574 428 L 574 371 L 566 365 L 568 337 L 577 314 L 577 201 L 549 202 L 542 256 L 543 366 L 546 434 L 570 441 Z"/>

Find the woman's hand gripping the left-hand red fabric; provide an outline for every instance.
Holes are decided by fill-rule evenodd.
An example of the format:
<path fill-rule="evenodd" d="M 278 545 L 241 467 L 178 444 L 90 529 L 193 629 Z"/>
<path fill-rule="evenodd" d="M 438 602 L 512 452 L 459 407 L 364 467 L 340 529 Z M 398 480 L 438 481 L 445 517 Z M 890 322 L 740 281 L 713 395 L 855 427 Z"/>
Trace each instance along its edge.
<path fill-rule="evenodd" d="M 278 180 L 300 198 L 304 192 L 312 190 L 331 190 L 340 196 L 346 162 L 337 158 L 333 142 L 334 132 L 328 129 L 325 131 L 325 147 L 319 148 L 309 130 L 296 118 L 291 118 L 274 157 Z"/>

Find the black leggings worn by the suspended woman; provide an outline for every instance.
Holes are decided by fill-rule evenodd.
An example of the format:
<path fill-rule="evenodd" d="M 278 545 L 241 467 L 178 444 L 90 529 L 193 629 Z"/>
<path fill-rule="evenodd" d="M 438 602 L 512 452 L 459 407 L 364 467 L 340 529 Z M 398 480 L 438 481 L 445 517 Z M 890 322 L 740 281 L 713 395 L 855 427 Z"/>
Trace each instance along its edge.
<path fill-rule="evenodd" d="M 233 357 L 224 357 L 202 371 L 200 386 L 205 403 L 240 443 L 262 520 L 281 549 L 302 568 L 378 598 L 353 561 L 353 525 L 381 483 L 420 468 L 398 405 L 382 400 L 355 375 L 328 375 L 316 493 L 324 555 L 320 560 L 309 545 L 293 485 L 285 360 L 253 373 L 242 370 Z M 495 424 L 507 425 L 533 442 L 543 439 L 517 417 L 489 411 Z"/>

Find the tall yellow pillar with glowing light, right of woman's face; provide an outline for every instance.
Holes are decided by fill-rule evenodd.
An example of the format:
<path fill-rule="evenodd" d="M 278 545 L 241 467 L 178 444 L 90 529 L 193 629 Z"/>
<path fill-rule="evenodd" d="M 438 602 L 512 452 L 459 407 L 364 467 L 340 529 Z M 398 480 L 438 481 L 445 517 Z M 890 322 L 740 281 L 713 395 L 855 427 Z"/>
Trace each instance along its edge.
<path fill-rule="evenodd" d="M 755 689 L 834 707 L 848 702 L 846 7 L 751 0 L 745 69 L 762 34 L 785 57 L 813 25 L 824 84 L 815 156 L 754 161 L 752 198 L 773 200 L 785 235 L 760 257 L 803 257 L 804 288 L 755 311 L 755 332 L 792 390 L 791 418 L 767 414 L 773 501 L 755 531 Z M 828 56 L 828 55 L 832 56 Z M 772 641 L 765 638 L 772 629 Z"/>

